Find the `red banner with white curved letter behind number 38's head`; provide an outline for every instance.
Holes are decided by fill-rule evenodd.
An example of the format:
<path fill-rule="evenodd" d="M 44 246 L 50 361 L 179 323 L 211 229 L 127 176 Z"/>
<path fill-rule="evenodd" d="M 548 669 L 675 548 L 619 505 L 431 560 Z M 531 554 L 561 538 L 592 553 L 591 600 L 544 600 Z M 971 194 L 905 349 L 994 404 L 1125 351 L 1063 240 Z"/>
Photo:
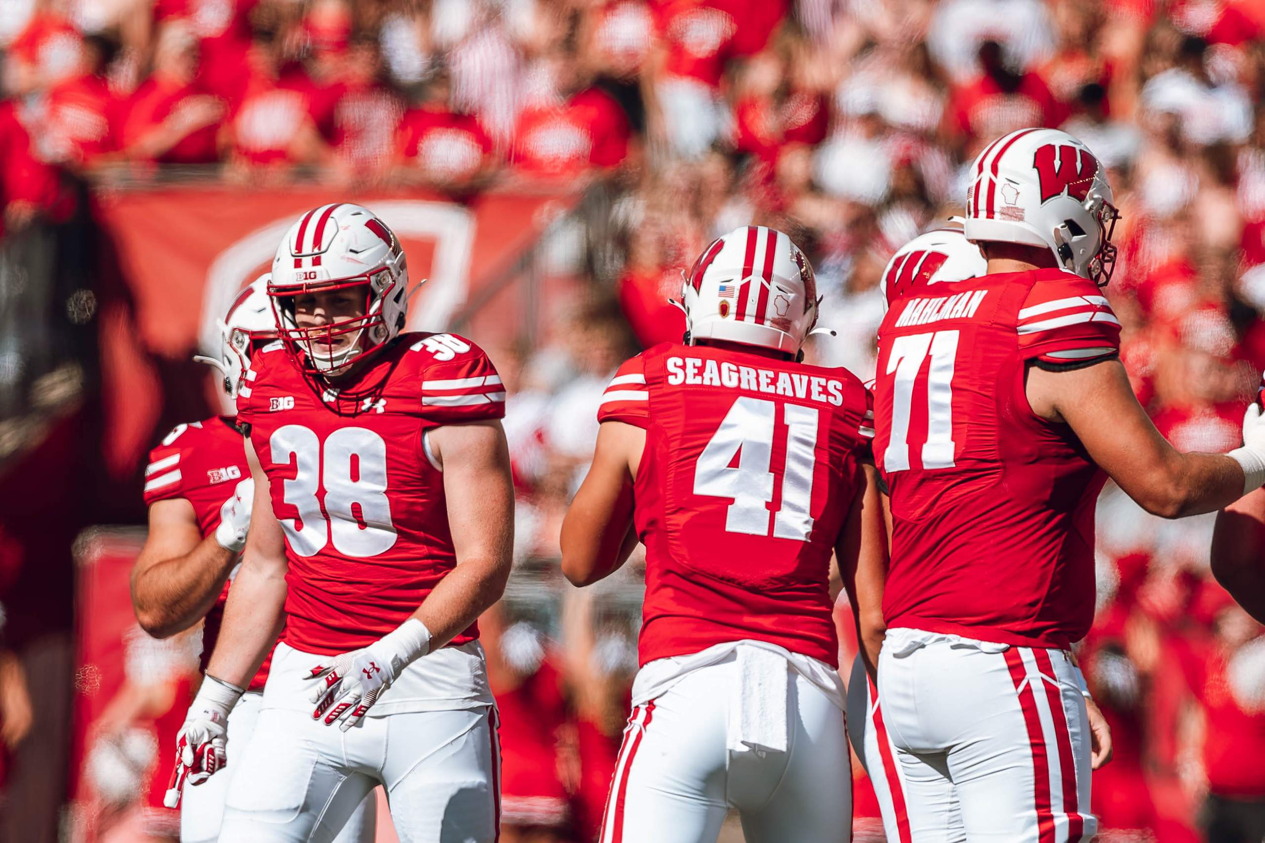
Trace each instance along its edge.
<path fill-rule="evenodd" d="M 114 244 L 121 289 L 101 303 L 108 468 L 130 473 L 166 420 L 214 408 L 209 376 L 191 389 L 183 363 L 200 343 L 218 349 L 215 319 L 272 262 L 299 215 L 329 201 L 355 201 L 400 237 L 412 282 L 426 280 L 409 310 L 409 329 L 445 328 L 484 285 L 511 268 L 544 225 L 572 203 L 568 194 L 487 194 L 459 204 L 428 192 L 336 196 L 324 187 L 254 192 L 180 187 L 106 194 L 97 219 Z M 509 328 L 512 328 L 509 327 Z M 474 337 L 479 340 L 479 337 Z M 164 418 L 166 416 L 166 418 Z"/>

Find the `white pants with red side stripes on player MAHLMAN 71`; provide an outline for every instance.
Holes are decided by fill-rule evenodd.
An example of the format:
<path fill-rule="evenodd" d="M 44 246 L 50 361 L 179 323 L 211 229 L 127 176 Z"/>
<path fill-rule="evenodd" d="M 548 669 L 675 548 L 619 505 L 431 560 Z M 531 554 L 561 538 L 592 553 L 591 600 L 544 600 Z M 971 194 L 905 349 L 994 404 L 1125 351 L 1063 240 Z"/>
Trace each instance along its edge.
<path fill-rule="evenodd" d="M 1098 830 L 1080 672 L 1066 652 L 889 629 L 878 700 L 874 732 L 894 751 L 908 821 L 893 840 L 1079 843 Z"/>

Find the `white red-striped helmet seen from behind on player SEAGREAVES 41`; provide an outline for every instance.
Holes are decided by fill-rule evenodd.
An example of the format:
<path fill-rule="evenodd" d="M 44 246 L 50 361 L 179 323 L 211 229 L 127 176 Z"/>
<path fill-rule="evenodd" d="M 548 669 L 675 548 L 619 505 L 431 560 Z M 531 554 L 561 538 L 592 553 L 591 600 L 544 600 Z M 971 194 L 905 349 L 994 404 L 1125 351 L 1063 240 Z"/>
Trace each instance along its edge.
<path fill-rule="evenodd" d="M 817 323 L 817 280 L 799 247 L 763 225 L 713 240 L 686 276 L 688 342 L 722 339 L 794 354 Z"/>

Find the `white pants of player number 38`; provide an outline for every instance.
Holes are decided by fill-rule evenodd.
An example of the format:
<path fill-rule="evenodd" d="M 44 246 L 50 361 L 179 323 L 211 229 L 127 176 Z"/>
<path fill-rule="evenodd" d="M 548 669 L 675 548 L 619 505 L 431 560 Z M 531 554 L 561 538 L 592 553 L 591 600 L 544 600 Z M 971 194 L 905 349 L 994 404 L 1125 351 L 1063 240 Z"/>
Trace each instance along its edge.
<path fill-rule="evenodd" d="M 221 839 L 329 843 L 382 785 L 400 843 L 493 843 L 501 802 L 493 706 L 378 716 L 371 710 L 343 732 L 312 719 L 311 689 L 288 670 L 316 657 L 288 648 L 278 654 L 269 708 L 259 711 L 245 752 L 230 754 L 229 763 L 240 767 L 229 784 Z"/>

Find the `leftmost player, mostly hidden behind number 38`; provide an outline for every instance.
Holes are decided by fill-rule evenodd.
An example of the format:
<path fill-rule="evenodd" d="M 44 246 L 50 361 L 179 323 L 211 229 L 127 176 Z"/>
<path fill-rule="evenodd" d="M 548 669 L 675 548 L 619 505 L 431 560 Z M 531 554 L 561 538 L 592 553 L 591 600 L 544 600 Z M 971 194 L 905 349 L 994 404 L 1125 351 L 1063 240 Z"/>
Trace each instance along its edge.
<path fill-rule="evenodd" d="M 242 376 L 257 348 L 277 338 L 261 276 L 233 301 L 220 322 L 220 356 L 196 357 L 213 365 L 224 392 L 237 397 Z M 202 668 L 215 647 L 233 570 L 250 527 L 254 481 L 247 465 L 242 432 L 233 416 L 215 415 L 177 425 L 149 454 L 145 470 L 149 534 L 132 571 L 132 603 L 142 628 L 167 638 L 202 620 Z M 250 678 L 247 692 L 228 719 L 228 735 L 245 746 L 254 732 L 268 678 L 268 659 Z M 207 691 L 214 686 L 207 684 Z M 195 704 L 196 705 L 196 704 Z M 230 775 L 210 776 L 223 759 L 215 751 L 194 758 L 194 735 L 182 734 L 166 802 L 180 806 L 182 843 L 219 839 Z M 188 746 L 188 738 L 194 746 Z M 186 759 L 183 756 L 188 754 Z M 185 785 L 195 787 L 186 789 Z M 182 797 L 183 796 L 183 797 Z M 340 843 L 373 839 L 377 802 L 364 800 L 339 832 Z"/>

